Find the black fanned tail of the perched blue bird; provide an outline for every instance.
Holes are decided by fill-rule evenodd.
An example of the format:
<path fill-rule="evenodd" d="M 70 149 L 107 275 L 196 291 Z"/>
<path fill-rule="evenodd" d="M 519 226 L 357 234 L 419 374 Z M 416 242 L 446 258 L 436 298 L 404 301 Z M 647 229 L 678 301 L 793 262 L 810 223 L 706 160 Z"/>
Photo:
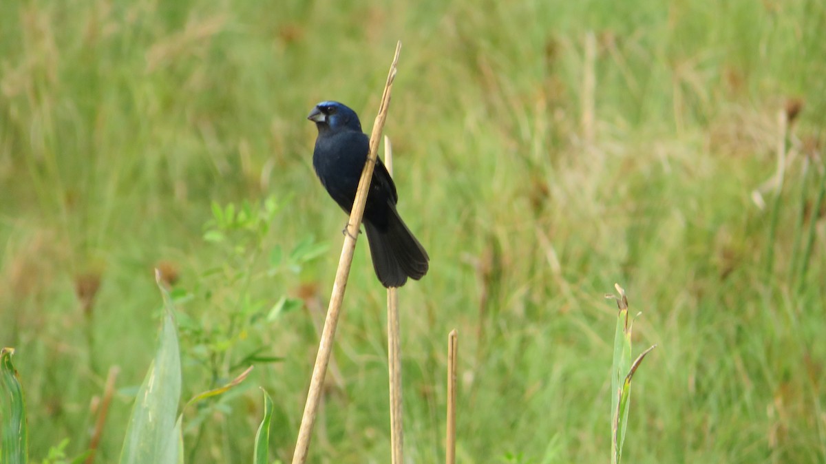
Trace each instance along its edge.
<path fill-rule="evenodd" d="M 415 239 L 410 229 L 396 212 L 387 215 L 387 228 L 382 230 L 364 222 L 373 269 L 383 286 L 403 286 L 407 277 L 419 280 L 427 273 L 428 261 L 425 248 Z"/>

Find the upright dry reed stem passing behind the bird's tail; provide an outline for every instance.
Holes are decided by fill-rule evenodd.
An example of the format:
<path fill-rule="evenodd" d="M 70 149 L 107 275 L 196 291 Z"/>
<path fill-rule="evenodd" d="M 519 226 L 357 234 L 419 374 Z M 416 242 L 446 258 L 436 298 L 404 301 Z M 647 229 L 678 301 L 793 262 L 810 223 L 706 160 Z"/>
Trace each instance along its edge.
<path fill-rule="evenodd" d="M 384 165 L 393 175 L 393 149 L 384 136 Z M 390 456 L 392 464 L 404 462 L 404 419 L 401 410 L 401 333 L 398 289 L 387 289 L 387 373 L 390 376 Z"/>

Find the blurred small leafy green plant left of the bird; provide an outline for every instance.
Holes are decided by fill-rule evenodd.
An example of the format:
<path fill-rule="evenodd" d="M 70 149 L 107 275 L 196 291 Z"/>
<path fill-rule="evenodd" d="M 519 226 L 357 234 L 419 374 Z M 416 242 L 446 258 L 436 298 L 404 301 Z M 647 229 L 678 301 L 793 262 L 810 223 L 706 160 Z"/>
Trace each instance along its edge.
<path fill-rule="evenodd" d="M 207 306 L 198 316 L 180 313 L 178 328 L 184 356 L 207 369 L 212 387 L 249 364 L 282 361 L 268 353 L 263 333 L 279 317 L 300 308 L 301 300 L 273 292 L 273 277 L 301 272 L 327 249 L 311 235 L 289 253 L 281 244 L 272 244 L 270 228 L 280 210 L 273 197 L 259 205 L 213 203 L 203 239 L 214 247 L 220 264 L 202 272 L 191 291 L 172 292 L 179 304 L 197 300 Z"/>

